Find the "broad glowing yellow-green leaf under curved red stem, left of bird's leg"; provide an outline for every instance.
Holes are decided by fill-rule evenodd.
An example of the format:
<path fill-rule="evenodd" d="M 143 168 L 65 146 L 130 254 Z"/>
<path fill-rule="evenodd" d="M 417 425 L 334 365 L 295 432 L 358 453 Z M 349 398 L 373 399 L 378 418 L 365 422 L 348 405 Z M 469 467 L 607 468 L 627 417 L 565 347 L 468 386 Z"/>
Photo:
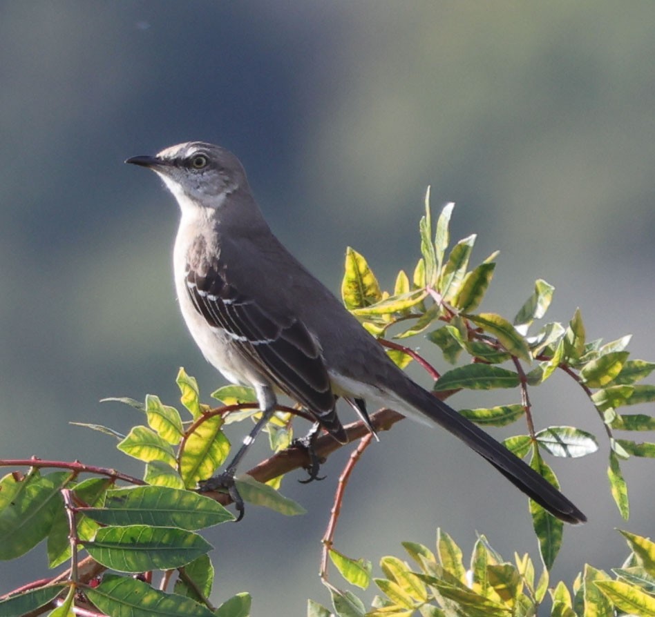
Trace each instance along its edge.
<path fill-rule="evenodd" d="M 223 419 L 213 415 L 189 435 L 180 457 L 180 475 L 187 488 L 210 478 L 229 454 L 229 440 L 220 429 Z"/>

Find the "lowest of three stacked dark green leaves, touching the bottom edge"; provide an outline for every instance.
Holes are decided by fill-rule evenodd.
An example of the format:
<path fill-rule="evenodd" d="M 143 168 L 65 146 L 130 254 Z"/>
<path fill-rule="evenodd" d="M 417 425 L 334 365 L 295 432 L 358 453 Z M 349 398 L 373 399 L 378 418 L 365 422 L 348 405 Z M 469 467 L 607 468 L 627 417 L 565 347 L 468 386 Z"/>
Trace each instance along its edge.
<path fill-rule="evenodd" d="M 84 594 L 106 615 L 113 617 L 213 617 L 209 609 L 190 598 L 153 589 L 136 578 L 106 574 L 95 589 Z"/>

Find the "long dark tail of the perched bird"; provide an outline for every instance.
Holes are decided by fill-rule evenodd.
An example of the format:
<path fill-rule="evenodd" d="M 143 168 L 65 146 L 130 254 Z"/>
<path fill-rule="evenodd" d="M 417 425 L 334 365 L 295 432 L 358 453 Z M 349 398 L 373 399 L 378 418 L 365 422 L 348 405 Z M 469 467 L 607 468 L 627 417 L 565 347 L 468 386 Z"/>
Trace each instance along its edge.
<path fill-rule="evenodd" d="M 468 447 L 486 458 L 515 487 L 554 516 L 571 523 L 587 520 L 587 517 L 550 482 L 473 422 L 448 407 L 446 403 L 435 398 L 409 378 L 404 380 L 404 385 L 399 390 L 395 392 L 397 397 L 461 439 Z"/>

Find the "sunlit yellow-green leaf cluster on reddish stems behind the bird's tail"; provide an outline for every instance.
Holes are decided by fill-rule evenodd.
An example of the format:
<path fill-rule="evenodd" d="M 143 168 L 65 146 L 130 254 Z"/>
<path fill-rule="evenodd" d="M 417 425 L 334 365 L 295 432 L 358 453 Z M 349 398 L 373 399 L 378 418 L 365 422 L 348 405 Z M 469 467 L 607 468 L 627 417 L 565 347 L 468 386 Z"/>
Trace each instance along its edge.
<path fill-rule="evenodd" d="M 595 453 L 595 435 L 571 426 L 535 427 L 530 391 L 556 371 L 567 375 L 587 396 L 599 427 L 609 441 L 607 476 L 621 516 L 629 516 L 627 484 L 620 463 L 631 456 L 655 457 L 655 443 L 618 438 L 614 431 L 652 431 L 652 415 L 623 413 L 624 407 L 655 401 L 655 386 L 640 383 L 655 369 L 654 362 L 630 358 L 630 337 L 611 342 L 588 340 L 578 309 L 568 324 L 545 322 L 554 287 L 537 280 L 533 292 L 513 318 L 479 312 L 495 271 L 497 252 L 471 266 L 475 235 L 456 242 L 450 251 L 448 227 L 454 204 L 447 204 L 433 230 L 426 210 L 419 224 L 421 257 L 411 277 L 399 271 L 393 291 L 383 291 L 363 255 L 348 248 L 341 286 L 343 302 L 370 333 L 388 346 L 401 368 L 417 360 L 435 379 L 434 390 L 511 391 L 495 405 L 462 409 L 460 413 L 483 427 L 503 427 L 523 420 L 526 430 L 504 440 L 516 456 L 531 455 L 531 466 L 558 487 L 544 455 L 579 458 Z M 388 336 L 393 333 L 392 339 Z M 435 344 L 451 364 L 443 375 L 406 344 L 421 335 Z M 562 542 L 563 525 L 531 502 L 533 526 L 542 558 L 551 567 Z"/>

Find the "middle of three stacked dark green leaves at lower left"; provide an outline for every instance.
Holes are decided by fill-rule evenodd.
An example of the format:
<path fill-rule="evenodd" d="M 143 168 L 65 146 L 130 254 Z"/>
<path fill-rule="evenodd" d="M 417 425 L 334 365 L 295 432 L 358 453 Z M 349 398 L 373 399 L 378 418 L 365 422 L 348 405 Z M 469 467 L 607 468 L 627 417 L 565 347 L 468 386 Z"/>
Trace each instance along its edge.
<path fill-rule="evenodd" d="M 148 525 L 101 527 L 83 545 L 98 563 L 119 572 L 179 568 L 212 549 L 193 531 Z"/>

